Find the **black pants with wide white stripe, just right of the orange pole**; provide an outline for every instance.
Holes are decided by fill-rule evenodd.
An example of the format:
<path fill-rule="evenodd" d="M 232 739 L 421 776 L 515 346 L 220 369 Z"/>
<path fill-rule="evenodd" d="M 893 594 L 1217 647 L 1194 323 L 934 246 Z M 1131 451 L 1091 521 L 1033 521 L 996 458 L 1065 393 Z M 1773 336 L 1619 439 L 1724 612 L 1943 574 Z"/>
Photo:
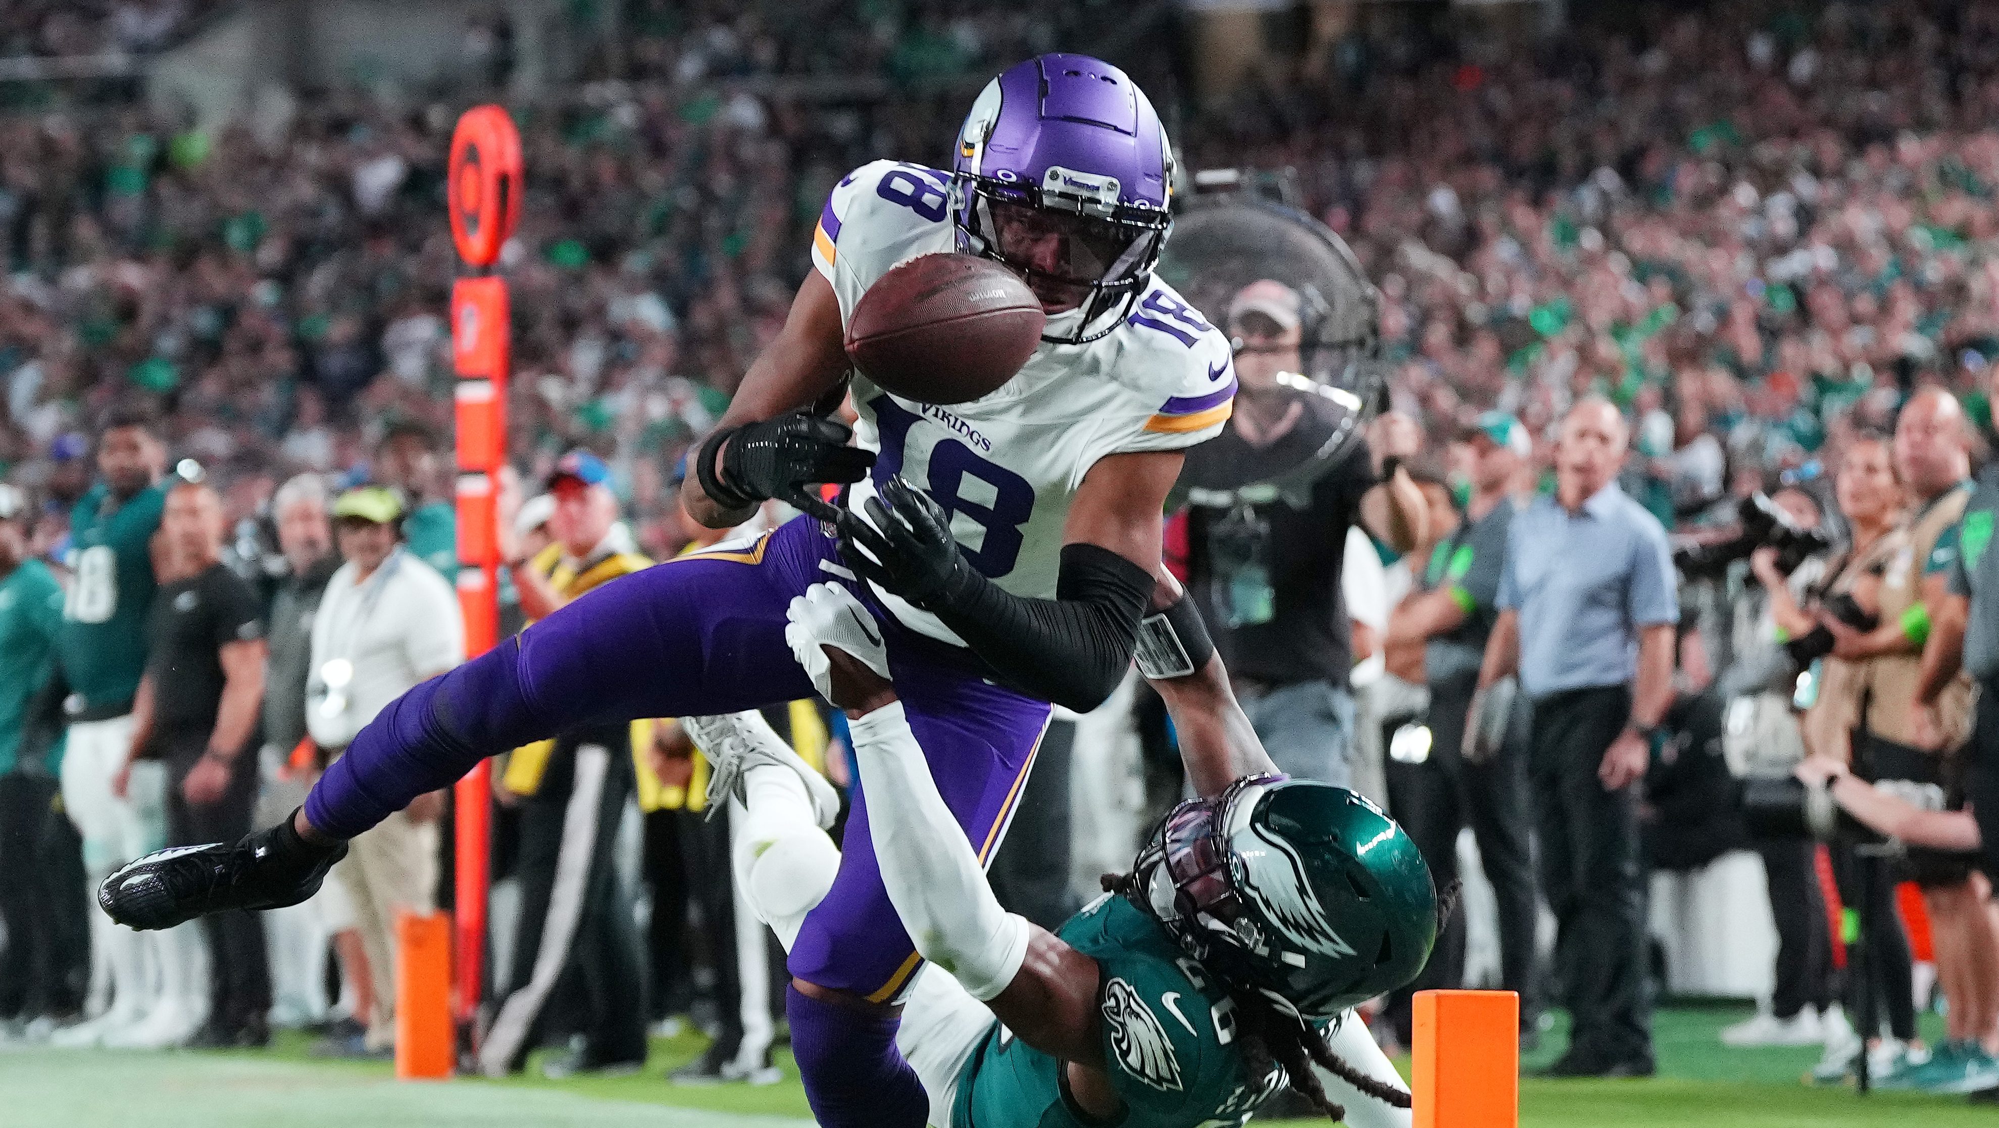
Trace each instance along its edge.
<path fill-rule="evenodd" d="M 540 1044 L 564 978 L 580 994 L 584 1058 L 600 1066 L 646 1060 L 638 920 L 614 858 L 634 786 L 630 734 L 606 726 L 562 738 L 542 786 L 520 804 L 520 926 L 508 998 L 490 1034 L 512 1040 L 516 1066 Z M 572 804 L 578 788 L 594 790 L 596 802 Z M 538 980 L 538 966 L 556 968 L 556 976 L 544 970 Z"/>

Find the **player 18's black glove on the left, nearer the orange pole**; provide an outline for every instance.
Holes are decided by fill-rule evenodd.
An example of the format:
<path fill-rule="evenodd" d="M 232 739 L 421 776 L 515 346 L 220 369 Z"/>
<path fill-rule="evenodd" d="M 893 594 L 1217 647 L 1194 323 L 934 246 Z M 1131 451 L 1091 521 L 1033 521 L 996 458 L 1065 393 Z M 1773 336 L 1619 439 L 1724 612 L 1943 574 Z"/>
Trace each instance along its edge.
<path fill-rule="evenodd" d="M 838 420 L 786 412 L 712 434 L 696 456 L 696 474 L 702 492 L 732 510 L 778 498 L 824 518 L 830 506 L 806 486 L 860 482 L 876 460 L 872 450 L 848 446 L 850 438 L 854 430 Z M 718 474 L 716 446 L 722 442 L 728 446 Z"/>

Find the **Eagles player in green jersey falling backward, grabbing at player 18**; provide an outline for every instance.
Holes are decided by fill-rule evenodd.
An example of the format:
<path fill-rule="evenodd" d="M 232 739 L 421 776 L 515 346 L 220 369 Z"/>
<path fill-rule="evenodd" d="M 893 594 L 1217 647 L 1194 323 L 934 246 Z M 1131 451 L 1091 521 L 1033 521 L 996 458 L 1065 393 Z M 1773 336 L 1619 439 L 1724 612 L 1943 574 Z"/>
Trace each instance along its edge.
<path fill-rule="evenodd" d="M 1265 774 L 1183 600 L 1147 620 L 1141 666 L 1205 798 L 1179 804 L 1131 872 L 1105 878 L 1109 892 L 1053 934 L 994 898 L 902 716 L 874 624 L 848 588 L 820 584 L 794 600 L 788 638 L 852 720 L 868 816 L 848 832 L 872 836 L 912 962 L 932 964 L 902 998 L 896 1040 L 934 1126 L 1237 1126 L 1287 1078 L 1333 1120 L 1409 1124 L 1401 1078 L 1349 1008 L 1429 956 L 1429 870 L 1367 800 Z M 1147 656 L 1159 638 L 1167 656 Z M 686 724 L 718 764 L 716 796 L 744 804 L 738 888 L 790 946 L 838 868 L 814 828 L 830 804 L 758 714 Z"/>

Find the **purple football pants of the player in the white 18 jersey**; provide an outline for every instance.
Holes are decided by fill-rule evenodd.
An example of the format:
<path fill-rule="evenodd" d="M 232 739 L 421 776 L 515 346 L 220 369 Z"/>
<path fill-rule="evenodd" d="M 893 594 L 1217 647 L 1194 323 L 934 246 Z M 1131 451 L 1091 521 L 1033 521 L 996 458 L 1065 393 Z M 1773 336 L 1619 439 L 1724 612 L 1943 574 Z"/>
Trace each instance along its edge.
<path fill-rule="evenodd" d="M 798 518 L 614 580 L 382 710 L 306 800 L 306 818 L 354 836 L 482 756 L 588 722 L 738 712 L 812 696 L 784 640 L 786 608 L 820 582 L 856 590 L 882 620 L 890 676 L 944 802 L 990 860 L 1047 728 L 1047 702 L 996 686 L 968 650 L 924 638 L 828 568 L 836 542 Z M 868 802 L 854 788 L 840 874 L 792 946 L 794 976 L 892 1000 L 916 946 L 882 888 Z"/>

